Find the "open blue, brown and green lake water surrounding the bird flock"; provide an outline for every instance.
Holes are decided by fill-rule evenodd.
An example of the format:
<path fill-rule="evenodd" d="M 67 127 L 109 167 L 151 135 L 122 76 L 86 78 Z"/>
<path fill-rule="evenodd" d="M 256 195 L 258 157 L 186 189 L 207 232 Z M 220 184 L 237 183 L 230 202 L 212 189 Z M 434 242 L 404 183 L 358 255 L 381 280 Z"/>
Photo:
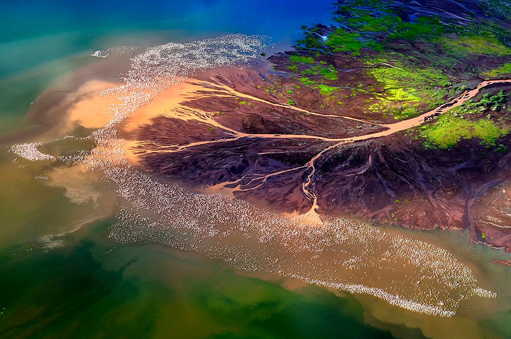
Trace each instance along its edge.
<path fill-rule="evenodd" d="M 417 314 L 374 296 L 352 295 L 297 278 L 237 270 L 219 258 L 157 241 L 113 239 L 112 229 L 118 224 L 114 216 L 126 202 L 103 174 L 58 162 L 28 163 L 8 152 L 14 143 L 62 137 L 59 126 L 44 124 L 59 125 L 59 119 L 45 120 L 35 113 L 27 118 L 28 112 L 43 115 L 51 108 L 34 109 L 41 93 L 49 88 L 64 94 L 75 91 L 88 74 L 84 69 L 95 69 L 87 79 L 103 80 L 126 71 L 120 67 L 100 74 L 95 65 L 108 61 L 90 57 L 95 50 L 240 32 L 292 40 L 299 25 L 307 23 L 304 13 L 314 10 L 306 3 L 286 2 L 279 5 L 288 13 L 283 17 L 282 10 L 268 15 L 261 9 L 269 6 L 266 2 L 242 7 L 197 2 L 190 7 L 175 5 L 178 8 L 160 4 L 133 13 L 124 2 L 106 8 L 101 4 L 69 7 L 50 2 L 41 7 L 34 2 L 2 11 L 0 338 L 509 337 L 511 291 L 505 281 L 510 273 L 489 265 L 490 258 L 504 255 L 475 247 L 459 234 L 446 238 L 440 232 L 389 230 L 396 236 L 425 238 L 468 258 L 463 263 L 472 264 L 484 286 L 501 294 L 498 303 L 461 305 L 453 318 Z M 100 8 L 104 12 L 98 13 Z M 28 24 L 27 11 L 48 24 L 40 26 L 39 20 Z M 164 13 L 174 14 L 169 18 Z M 212 13 L 215 19 L 210 18 Z M 318 10 L 317 17 L 309 14 L 305 21 L 321 20 L 324 13 Z M 127 64 L 125 59 L 118 61 Z M 79 126 L 72 129 L 74 136 L 88 133 Z M 52 154 L 74 154 L 92 146 L 60 141 L 44 147 Z"/>

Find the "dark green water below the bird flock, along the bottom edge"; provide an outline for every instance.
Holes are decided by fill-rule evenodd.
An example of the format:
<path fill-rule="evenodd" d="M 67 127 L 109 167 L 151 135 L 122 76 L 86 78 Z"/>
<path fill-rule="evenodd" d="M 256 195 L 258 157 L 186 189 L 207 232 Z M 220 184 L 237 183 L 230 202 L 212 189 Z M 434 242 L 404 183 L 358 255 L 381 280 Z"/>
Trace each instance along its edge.
<path fill-rule="evenodd" d="M 291 292 L 163 246 L 120 246 L 107 238 L 112 222 L 58 249 L 3 250 L 3 337 L 392 337 L 365 324 L 353 297 Z"/>

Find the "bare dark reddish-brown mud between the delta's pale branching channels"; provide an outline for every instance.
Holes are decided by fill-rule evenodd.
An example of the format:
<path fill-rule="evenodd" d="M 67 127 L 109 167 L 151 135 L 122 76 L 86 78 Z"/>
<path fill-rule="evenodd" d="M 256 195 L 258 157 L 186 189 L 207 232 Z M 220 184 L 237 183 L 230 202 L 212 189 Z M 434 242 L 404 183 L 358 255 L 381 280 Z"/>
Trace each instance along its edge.
<path fill-rule="evenodd" d="M 206 96 L 185 103 L 216 113 L 216 121 L 235 131 L 344 138 L 384 130 L 373 123 L 308 115 L 271 105 L 287 102 L 286 97 L 265 90 L 275 84 L 283 89 L 292 86 L 292 81 L 284 76 L 274 75 L 271 82 L 251 71 L 217 70 L 201 76 L 270 102 L 249 106 L 247 100 L 247 104 L 240 105 L 245 100 L 240 95 L 239 100 Z M 308 88 L 300 95 L 297 100 L 300 108 L 374 122 L 348 108 L 322 109 L 324 99 Z M 233 136 L 206 123 L 160 116 L 138 129 L 134 138 L 153 140 L 160 145 L 185 145 Z M 499 142 L 511 148 L 509 139 L 508 136 Z M 241 198 L 265 201 L 280 211 L 304 213 L 312 206 L 311 197 L 303 190 L 312 170 L 306 165 L 316 154 L 335 144 L 316 139 L 250 137 L 207 143 L 179 152 L 146 153 L 141 160 L 143 166 L 158 175 L 178 177 L 200 188 L 220 185 Z M 468 228 L 472 241 L 511 250 L 511 228 L 507 228 L 511 218 L 499 210 L 502 206 L 498 201 L 492 201 L 497 206 L 492 210 L 484 199 L 492 194 L 493 188 L 509 180 L 510 166 L 511 152 L 488 149 L 479 145 L 479 140 L 464 140 L 452 149 L 427 150 L 422 142 L 397 133 L 324 152 L 314 163 L 310 190 L 317 196 L 320 214 L 354 215 L 368 221 L 426 230 Z M 262 178 L 284 170 L 289 171 Z M 481 219 L 491 218 L 495 214 L 492 211 L 506 217 L 500 219 L 499 226 Z"/>

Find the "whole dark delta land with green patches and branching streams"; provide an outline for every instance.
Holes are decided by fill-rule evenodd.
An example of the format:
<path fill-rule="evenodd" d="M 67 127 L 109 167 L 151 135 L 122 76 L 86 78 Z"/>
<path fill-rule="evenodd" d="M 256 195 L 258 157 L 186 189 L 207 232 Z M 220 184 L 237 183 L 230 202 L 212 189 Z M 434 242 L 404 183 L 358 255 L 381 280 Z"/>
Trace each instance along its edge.
<path fill-rule="evenodd" d="M 304 27 L 294 51 L 268 58 L 275 72 L 199 74 L 204 90 L 183 109 L 215 125 L 160 115 L 124 137 L 167 146 L 136 152 L 153 173 L 199 188 L 285 212 L 305 213 L 316 198 L 319 214 L 468 228 L 472 241 L 511 250 L 510 84 L 406 131 L 349 140 L 511 78 L 497 3 L 340 1 L 335 26 Z"/>

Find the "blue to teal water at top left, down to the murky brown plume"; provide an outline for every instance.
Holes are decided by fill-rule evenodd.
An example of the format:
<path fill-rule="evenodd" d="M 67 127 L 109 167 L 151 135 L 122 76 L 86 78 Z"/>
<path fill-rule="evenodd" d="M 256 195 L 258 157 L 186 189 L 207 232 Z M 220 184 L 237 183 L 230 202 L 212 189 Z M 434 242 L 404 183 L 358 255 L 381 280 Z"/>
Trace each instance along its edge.
<path fill-rule="evenodd" d="M 0 2 L 0 138 L 28 126 L 31 102 L 98 49 L 143 48 L 228 33 L 265 34 L 281 48 L 300 26 L 328 22 L 331 0 Z"/>

